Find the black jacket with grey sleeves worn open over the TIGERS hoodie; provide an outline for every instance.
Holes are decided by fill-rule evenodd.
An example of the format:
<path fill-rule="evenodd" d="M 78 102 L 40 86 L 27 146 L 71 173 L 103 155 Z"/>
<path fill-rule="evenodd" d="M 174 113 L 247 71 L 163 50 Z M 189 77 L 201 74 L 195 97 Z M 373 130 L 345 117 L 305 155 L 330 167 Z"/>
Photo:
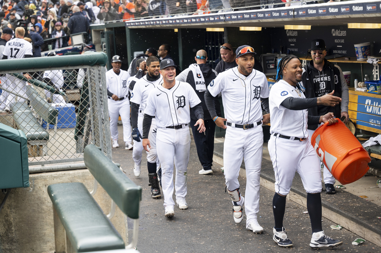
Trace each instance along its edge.
<path fill-rule="evenodd" d="M 306 88 L 306 98 L 311 99 L 315 96 L 315 86 L 311 82 L 314 79 L 315 75 L 319 75 L 319 71 L 314 67 L 314 61 L 310 60 L 306 66 L 304 66 L 304 71 L 302 74 L 302 82 L 304 88 Z M 340 80 L 340 70 L 335 67 L 334 64 L 328 62 L 327 59 L 324 59 L 324 66 L 322 72 L 330 72 L 330 83 L 331 83 L 331 91 L 335 90 L 334 94 L 336 97 L 341 97 L 341 80 Z M 320 72 L 320 73 L 322 73 Z M 332 111 L 335 114 L 335 117 L 340 117 L 341 115 L 341 103 L 335 105 Z M 308 109 L 308 115 L 311 116 L 321 116 L 317 111 L 317 107 L 312 107 Z M 309 130 L 316 130 L 318 125 L 308 125 Z"/>

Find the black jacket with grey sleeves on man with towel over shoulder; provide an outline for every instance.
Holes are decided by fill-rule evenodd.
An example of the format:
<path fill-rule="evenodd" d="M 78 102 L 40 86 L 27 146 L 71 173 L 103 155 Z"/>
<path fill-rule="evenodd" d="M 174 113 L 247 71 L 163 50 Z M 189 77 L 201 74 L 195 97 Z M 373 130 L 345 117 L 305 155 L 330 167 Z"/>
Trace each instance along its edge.
<path fill-rule="evenodd" d="M 205 85 L 208 87 L 210 82 L 217 77 L 217 73 L 215 72 L 215 70 L 213 70 L 213 68 L 209 67 L 208 64 L 199 64 L 199 66 L 200 66 L 202 75 L 204 76 Z M 191 84 L 192 88 L 195 90 L 197 96 L 201 100 L 202 109 L 204 111 L 204 119 L 211 119 L 210 113 L 208 111 L 208 108 L 204 99 L 205 91 L 199 92 L 196 90 L 196 84 L 194 81 L 192 70 L 190 68 L 186 68 L 185 70 L 181 72 L 181 75 L 176 76 L 176 80 Z M 216 105 L 217 115 L 221 117 L 221 105 L 218 101 L 218 96 L 215 97 L 215 105 Z M 191 108 L 191 119 L 195 119 L 195 120 L 198 119 L 196 115 L 194 114 L 194 111 L 192 108 Z"/>

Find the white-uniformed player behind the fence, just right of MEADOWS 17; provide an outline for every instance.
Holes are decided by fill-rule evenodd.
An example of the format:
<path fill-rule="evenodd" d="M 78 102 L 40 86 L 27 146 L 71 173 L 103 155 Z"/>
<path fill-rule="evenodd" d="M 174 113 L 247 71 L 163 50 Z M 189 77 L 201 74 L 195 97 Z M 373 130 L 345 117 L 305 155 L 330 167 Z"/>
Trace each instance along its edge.
<path fill-rule="evenodd" d="M 48 56 L 58 56 L 55 51 L 50 51 Z M 45 83 L 50 86 L 56 88 L 59 91 L 62 91 L 62 86 L 64 85 L 64 75 L 62 74 L 62 70 L 45 70 L 43 74 L 43 80 Z M 45 90 L 46 97 L 52 98 L 52 103 L 64 103 L 66 104 L 64 97 L 60 94 L 51 94 L 50 91 Z"/>

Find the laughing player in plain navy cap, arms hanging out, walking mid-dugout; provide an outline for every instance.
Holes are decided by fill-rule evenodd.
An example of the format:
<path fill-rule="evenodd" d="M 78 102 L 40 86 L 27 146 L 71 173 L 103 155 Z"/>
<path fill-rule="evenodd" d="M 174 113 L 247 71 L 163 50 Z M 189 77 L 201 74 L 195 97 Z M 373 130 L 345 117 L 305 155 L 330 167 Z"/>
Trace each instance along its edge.
<path fill-rule="evenodd" d="M 149 152 L 149 129 L 155 116 L 157 125 L 156 148 L 162 166 L 162 189 L 164 194 L 165 216 L 174 215 L 173 162 L 176 166 L 176 202 L 180 209 L 187 209 L 187 165 L 191 136 L 188 124 L 191 121 L 190 108 L 193 108 L 199 131 L 205 132 L 204 113 L 199 97 L 188 83 L 175 81 L 176 65 L 173 60 L 160 62 L 160 75 L 163 83 L 152 89 L 148 95 L 143 118 L 143 147 Z"/>

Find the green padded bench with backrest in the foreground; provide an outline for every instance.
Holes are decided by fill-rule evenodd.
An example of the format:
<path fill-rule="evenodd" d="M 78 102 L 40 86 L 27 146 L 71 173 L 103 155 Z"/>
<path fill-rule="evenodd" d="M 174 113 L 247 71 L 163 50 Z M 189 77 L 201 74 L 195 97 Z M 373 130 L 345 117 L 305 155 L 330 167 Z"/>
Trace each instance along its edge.
<path fill-rule="evenodd" d="M 84 161 L 95 180 L 113 200 L 111 210 L 115 212 L 116 204 L 125 215 L 134 219 L 133 242 L 125 246 L 109 216 L 104 215 L 83 183 L 62 183 L 48 186 L 53 203 L 56 252 L 134 248 L 138 240 L 142 188 L 135 185 L 93 144 L 86 146 Z"/>

